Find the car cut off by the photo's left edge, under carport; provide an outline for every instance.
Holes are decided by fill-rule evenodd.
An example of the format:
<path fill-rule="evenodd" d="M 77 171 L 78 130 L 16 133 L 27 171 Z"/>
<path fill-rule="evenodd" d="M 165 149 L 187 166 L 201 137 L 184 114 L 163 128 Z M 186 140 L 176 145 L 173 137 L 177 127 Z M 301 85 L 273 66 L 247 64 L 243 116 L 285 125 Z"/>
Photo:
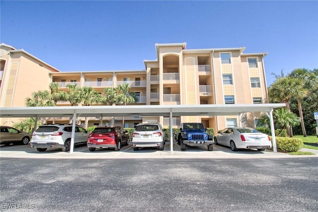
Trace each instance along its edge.
<path fill-rule="evenodd" d="M 20 143 L 28 144 L 30 134 L 21 132 L 13 127 L 0 126 L 0 144 Z"/>

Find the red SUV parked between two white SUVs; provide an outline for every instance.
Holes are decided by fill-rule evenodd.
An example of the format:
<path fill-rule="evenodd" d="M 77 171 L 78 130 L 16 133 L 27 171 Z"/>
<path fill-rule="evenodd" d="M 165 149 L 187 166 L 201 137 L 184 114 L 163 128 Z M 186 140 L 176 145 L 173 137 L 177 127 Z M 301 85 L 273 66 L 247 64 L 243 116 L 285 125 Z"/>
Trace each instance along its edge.
<path fill-rule="evenodd" d="M 128 144 L 128 132 L 119 126 L 96 127 L 87 140 L 89 151 L 95 151 L 96 148 L 115 148 L 115 151 L 119 151 L 121 145 Z"/>

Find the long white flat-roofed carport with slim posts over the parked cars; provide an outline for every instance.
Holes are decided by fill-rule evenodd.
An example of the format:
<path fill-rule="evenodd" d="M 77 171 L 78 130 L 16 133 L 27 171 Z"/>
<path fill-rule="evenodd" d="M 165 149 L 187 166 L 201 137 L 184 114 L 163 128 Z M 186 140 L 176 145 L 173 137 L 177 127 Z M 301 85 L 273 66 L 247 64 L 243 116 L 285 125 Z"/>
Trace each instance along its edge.
<path fill-rule="evenodd" d="M 225 104 L 225 105 L 132 105 L 132 106 L 68 106 L 68 107 L 10 107 L 0 108 L 0 118 L 39 117 L 90 117 L 90 116 L 169 116 L 170 152 L 173 154 L 172 115 L 174 116 L 226 116 L 247 112 L 265 112 L 270 118 L 273 151 L 277 152 L 273 121 L 273 109 L 285 104 Z M 71 138 L 70 153 L 74 150 L 75 125 Z"/>

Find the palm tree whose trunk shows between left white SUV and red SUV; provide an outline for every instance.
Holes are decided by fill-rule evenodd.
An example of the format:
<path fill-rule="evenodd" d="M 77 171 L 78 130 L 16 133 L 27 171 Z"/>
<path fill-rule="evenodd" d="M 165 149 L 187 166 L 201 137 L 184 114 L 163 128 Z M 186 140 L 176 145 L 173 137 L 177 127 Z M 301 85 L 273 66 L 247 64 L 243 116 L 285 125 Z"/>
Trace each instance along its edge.
<path fill-rule="evenodd" d="M 102 101 L 102 95 L 99 94 L 94 88 L 92 87 L 81 87 L 79 89 L 79 100 L 85 106 L 89 106 L 93 103 L 98 103 Z M 85 117 L 84 128 L 87 129 L 88 127 L 88 119 Z"/>

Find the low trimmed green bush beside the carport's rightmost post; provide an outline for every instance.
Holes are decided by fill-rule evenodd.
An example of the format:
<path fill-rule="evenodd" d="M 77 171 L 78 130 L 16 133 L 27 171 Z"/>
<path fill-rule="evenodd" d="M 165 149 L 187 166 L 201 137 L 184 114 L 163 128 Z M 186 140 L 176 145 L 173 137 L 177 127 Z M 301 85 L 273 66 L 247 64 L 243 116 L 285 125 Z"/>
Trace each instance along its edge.
<path fill-rule="evenodd" d="M 272 138 L 271 138 L 271 141 L 273 143 Z M 284 152 L 299 151 L 301 148 L 303 148 L 303 146 L 304 146 L 304 143 L 301 139 L 276 137 L 277 151 L 284 151 Z"/>

